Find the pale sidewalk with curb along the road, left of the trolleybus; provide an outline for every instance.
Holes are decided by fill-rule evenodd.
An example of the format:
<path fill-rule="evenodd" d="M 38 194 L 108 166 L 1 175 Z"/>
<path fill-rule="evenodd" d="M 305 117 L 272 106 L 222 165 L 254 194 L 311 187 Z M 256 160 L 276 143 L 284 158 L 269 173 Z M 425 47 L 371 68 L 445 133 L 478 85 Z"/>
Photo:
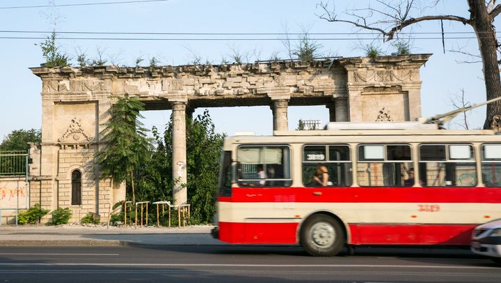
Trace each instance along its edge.
<path fill-rule="evenodd" d="M 81 225 L 0 227 L 0 246 L 13 245 L 225 245 L 210 235 L 213 226 L 84 227 Z"/>

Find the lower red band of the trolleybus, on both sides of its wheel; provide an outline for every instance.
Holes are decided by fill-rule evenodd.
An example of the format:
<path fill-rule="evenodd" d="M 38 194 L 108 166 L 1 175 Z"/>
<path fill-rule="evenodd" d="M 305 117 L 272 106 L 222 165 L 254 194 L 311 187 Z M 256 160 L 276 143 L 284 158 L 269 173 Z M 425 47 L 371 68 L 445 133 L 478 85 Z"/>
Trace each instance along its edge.
<path fill-rule="evenodd" d="M 298 223 L 219 222 L 232 244 L 297 244 Z M 474 224 L 349 224 L 352 245 L 470 245 Z"/>

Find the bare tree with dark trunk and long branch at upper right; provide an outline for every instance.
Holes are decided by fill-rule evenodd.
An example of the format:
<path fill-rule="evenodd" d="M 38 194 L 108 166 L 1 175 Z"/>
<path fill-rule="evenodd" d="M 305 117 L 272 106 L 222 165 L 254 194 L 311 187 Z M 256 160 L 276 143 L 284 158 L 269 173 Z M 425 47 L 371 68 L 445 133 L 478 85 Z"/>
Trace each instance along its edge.
<path fill-rule="evenodd" d="M 439 0 L 431 1 L 431 6 L 436 6 Z M 475 31 L 479 44 L 480 56 L 482 58 L 482 71 L 484 72 L 484 82 L 486 86 L 486 99 L 491 100 L 501 96 L 501 80 L 498 64 L 498 49 L 500 43 L 496 39 L 495 26 L 493 24 L 495 17 L 501 13 L 501 4 L 496 0 L 467 0 L 468 12 L 470 17 L 460 17 L 456 15 L 423 15 L 413 16 L 414 11 L 421 11 L 417 7 L 420 1 L 401 0 L 394 4 L 390 0 L 376 0 L 381 8 L 358 9 L 353 13 L 347 13 L 350 19 L 341 19 L 337 17 L 335 10 L 328 7 L 328 3 L 319 3 L 323 14 L 319 15 L 321 19 L 329 22 L 344 22 L 369 31 L 381 33 L 385 40 L 397 38 L 399 31 L 424 21 L 451 21 L 468 24 Z M 367 12 L 367 15 L 360 13 Z M 380 16 L 379 20 L 371 22 L 370 18 L 374 15 Z M 491 128 L 494 116 L 501 116 L 501 102 L 493 102 L 487 105 L 486 120 L 484 129 Z"/>

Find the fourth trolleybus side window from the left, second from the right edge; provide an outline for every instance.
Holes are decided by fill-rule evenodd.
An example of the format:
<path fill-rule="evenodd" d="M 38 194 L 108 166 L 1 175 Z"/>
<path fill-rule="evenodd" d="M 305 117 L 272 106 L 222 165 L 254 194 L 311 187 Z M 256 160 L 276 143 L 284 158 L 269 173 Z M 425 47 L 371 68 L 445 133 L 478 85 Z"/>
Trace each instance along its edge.
<path fill-rule="evenodd" d="M 470 144 L 422 144 L 419 167 L 424 187 L 477 185 L 475 155 Z"/>

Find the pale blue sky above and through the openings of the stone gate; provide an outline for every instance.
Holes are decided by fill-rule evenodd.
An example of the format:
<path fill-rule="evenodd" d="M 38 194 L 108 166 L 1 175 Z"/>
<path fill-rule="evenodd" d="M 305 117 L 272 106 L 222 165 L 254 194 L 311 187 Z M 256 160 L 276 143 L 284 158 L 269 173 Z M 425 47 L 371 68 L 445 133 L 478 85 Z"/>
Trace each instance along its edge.
<path fill-rule="evenodd" d="M 365 56 L 363 45 L 379 46 L 385 54 L 393 49 L 382 43 L 375 35 L 366 35 L 349 24 L 321 20 L 322 13 L 317 6 L 319 0 L 170 0 L 136 1 L 127 0 L 3 0 L 0 1 L 0 54 L 3 66 L 0 68 L 0 139 L 13 130 L 40 129 L 42 111 L 40 92 L 42 82 L 29 68 L 40 66 L 42 57 L 40 42 L 49 36 L 54 28 L 60 32 L 57 40 L 61 51 L 72 57 L 72 65 L 78 66 L 77 54 L 84 53 L 89 59 L 101 54 L 108 61 L 106 65 L 135 66 L 136 59 L 148 66 L 152 57 L 157 65 L 178 66 L 200 58 L 219 64 L 225 59 L 231 61 L 234 52 L 245 59 L 267 60 L 273 54 L 288 59 L 283 45 L 284 35 L 273 36 L 218 36 L 224 40 L 200 40 L 211 36 L 166 36 L 96 33 L 289 33 L 290 43 L 296 45 L 298 37 L 292 33 L 347 33 L 342 35 L 314 35 L 311 38 L 321 45 L 322 56 L 356 57 Z M 130 1 L 132 2 L 132 1 Z M 395 1 L 394 1 L 395 2 Z M 422 3 L 434 1 L 422 1 Z M 100 4 L 98 3 L 109 3 Z M 45 6 L 36 8 L 13 8 L 19 6 Z M 65 4 L 92 4 L 61 6 Z M 374 0 L 331 1 L 339 18 L 348 18 L 347 10 L 376 6 Z M 59 6 L 58 6 L 59 5 Z M 413 10 L 415 16 L 460 15 L 468 17 L 466 1 L 443 0 L 434 7 L 420 6 Z M 362 10 L 362 13 L 365 13 Z M 411 52 L 433 54 L 420 70 L 422 79 L 422 116 L 429 117 L 448 112 L 454 107 L 450 99 L 464 91 L 465 100 L 479 103 L 485 100 L 481 63 L 461 63 L 472 60 L 468 56 L 450 50 L 461 50 L 478 54 L 478 45 L 470 26 L 458 22 L 444 22 L 445 54 L 440 39 L 440 22 L 423 22 L 404 31 L 413 33 L 409 43 Z M 27 33 L 42 31 L 46 33 Z M 91 32 L 71 34 L 65 32 Z M 459 33 L 466 32 L 466 33 Z M 430 34 L 431 33 L 431 34 Z M 104 40 L 75 38 L 154 38 L 156 40 Z M 402 35 L 408 37 L 408 35 Z M 183 38 L 183 40 L 159 40 L 161 38 Z M 212 36 L 212 38 L 217 38 Z M 271 38 L 271 40 L 234 40 L 235 38 Z M 330 40 L 325 40 L 326 38 Z M 341 38 L 333 40 L 333 38 Z M 369 38 L 369 40 L 365 39 Z M 438 38 L 438 39 L 426 39 Z M 196 109 L 195 115 L 204 109 Z M 269 107 L 224 107 L 210 108 L 209 114 L 216 125 L 216 131 L 234 135 L 234 132 L 248 131 L 257 135 L 271 135 L 273 120 Z M 155 125 L 164 129 L 170 118 L 170 111 L 143 112 L 143 123 L 147 128 Z M 485 107 L 468 114 L 471 128 L 482 127 Z M 324 106 L 289 107 L 289 129 L 294 130 L 299 119 L 328 122 L 328 109 Z M 42 129 L 43 130 L 43 129 Z"/>

